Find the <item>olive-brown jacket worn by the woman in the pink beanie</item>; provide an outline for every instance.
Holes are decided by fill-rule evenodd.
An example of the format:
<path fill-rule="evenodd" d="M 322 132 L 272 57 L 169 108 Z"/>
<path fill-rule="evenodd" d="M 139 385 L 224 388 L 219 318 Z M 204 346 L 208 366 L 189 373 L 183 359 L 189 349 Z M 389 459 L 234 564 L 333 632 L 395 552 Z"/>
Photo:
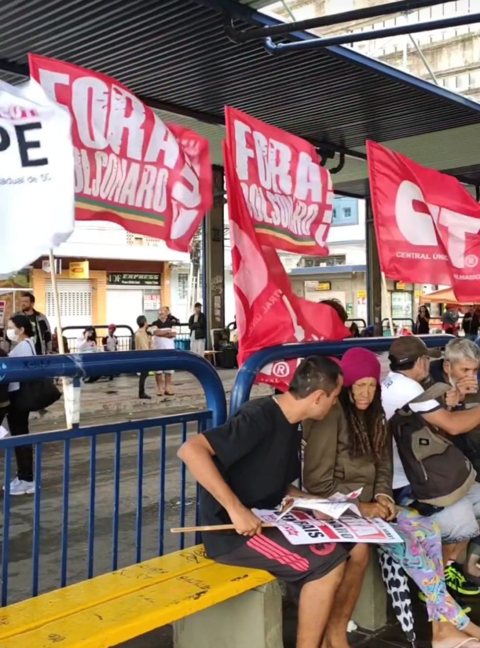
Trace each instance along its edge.
<path fill-rule="evenodd" d="M 336 404 L 323 421 L 303 422 L 303 485 L 308 492 L 330 497 L 363 488 L 360 502 L 378 495 L 392 497 L 392 440 L 381 461 L 370 456 L 351 457 L 349 430 L 341 406 Z"/>

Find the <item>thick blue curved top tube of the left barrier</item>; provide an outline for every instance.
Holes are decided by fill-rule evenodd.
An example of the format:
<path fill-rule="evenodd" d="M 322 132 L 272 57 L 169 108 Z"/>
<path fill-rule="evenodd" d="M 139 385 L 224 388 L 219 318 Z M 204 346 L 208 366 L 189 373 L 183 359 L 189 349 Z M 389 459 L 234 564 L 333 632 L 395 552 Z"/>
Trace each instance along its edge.
<path fill-rule="evenodd" d="M 118 353 L 74 353 L 71 355 L 3 358 L 0 382 L 41 380 L 42 378 L 86 378 L 112 376 L 141 371 L 189 371 L 205 391 L 207 408 L 213 412 L 213 424 L 220 425 L 227 417 L 227 404 L 222 380 L 214 367 L 189 351 L 119 351 Z"/>

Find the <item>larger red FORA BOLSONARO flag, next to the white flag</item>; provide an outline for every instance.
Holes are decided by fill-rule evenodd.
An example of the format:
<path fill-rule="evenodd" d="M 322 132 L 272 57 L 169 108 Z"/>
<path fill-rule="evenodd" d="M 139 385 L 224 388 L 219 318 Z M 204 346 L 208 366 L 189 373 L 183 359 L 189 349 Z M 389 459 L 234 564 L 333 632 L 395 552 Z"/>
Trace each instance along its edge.
<path fill-rule="evenodd" d="M 73 119 L 75 218 L 110 220 L 187 252 L 212 205 L 208 141 L 165 124 L 109 76 L 36 54 L 29 62 Z"/>

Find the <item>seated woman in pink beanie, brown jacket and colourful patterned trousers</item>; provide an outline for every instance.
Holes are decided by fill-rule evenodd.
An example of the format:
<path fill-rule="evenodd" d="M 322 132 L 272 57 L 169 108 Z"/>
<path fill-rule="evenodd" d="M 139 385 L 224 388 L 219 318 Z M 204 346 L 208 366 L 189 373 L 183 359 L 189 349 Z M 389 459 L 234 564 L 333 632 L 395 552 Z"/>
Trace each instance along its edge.
<path fill-rule="evenodd" d="M 393 526 L 404 542 L 382 545 L 381 562 L 384 571 L 388 566 L 396 575 L 406 572 L 420 588 L 432 624 L 432 647 L 480 648 L 480 628 L 448 593 L 439 528 L 417 511 L 396 509 L 394 504 L 392 439 L 380 397 L 380 362 L 371 351 L 354 347 L 344 354 L 341 369 L 343 389 L 337 406 L 322 421 L 303 423 L 304 488 L 323 497 L 361 488 L 358 507 L 363 517 L 396 520 Z M 325 648 L 348 645 L 347 623 L 358 594 L 350 591 L 348 600 L 337 601 Z M 409 599 L 401 579 L 389 594 L 400 616 L 402 601 Z M 415 640 L 413 627 L 410 638 Z"/>

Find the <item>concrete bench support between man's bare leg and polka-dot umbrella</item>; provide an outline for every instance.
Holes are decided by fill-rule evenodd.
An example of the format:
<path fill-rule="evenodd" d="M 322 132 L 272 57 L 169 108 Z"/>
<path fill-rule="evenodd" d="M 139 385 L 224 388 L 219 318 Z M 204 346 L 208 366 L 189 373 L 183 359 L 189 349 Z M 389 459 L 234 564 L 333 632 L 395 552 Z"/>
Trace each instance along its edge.
<path fill-rule="evenodd" d="M 382 580 L 376 549 L 372 548 L 369 566 L 353 612 L 355 623 L 365 630 L 379 630 L 387 623 L 387 590 Z"/>

